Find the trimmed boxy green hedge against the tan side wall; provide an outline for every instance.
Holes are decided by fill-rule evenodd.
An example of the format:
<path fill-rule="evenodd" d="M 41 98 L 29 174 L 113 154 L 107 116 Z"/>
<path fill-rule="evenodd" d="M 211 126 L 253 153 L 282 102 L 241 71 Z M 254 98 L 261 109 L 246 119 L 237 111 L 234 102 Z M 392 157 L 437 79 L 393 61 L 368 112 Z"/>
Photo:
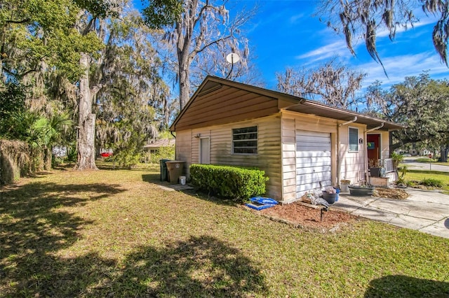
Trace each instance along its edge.
<path fill-rule="evenodd" d="M 192 164 L 190 179 L 199 190 L 239 202 L 264 194 L 268 180 L 260 169 L 212 164 Z"/>

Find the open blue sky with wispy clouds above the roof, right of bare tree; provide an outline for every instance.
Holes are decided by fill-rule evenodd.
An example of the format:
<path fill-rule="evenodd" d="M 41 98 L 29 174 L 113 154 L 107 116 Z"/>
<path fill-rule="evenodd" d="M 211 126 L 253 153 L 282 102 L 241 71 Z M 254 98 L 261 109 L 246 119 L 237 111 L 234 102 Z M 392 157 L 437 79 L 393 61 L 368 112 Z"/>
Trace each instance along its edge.
<path fill-rule="evenodd" d="M 417 76 L 427 70 L 431 78 L 447 78 L 448 67 L 434 50 L 431 31 L 435 17 L 427 17 L 420 9 L 416 15 L 420 22 L 413 29 L 398 30 L 394 41 L 388 32 L 379 32 L 377 50 L 388 74 L 382 66 L 371 59 L 364 41 L 354 46 L 356 57 L 347 49 L 342 34 L 326 27 L 318 17 L 312 17 L 318 1 L 302 0 L 230 0 L 229 9 L 242 6 L 260 6 L 257 17 L 246 27 L 255 60 L 267 87 L 276 87 L 275 73 L 282 73 L 286 67 L 314 68 L 333 57 L 351 69 L 368 73 L 364 86 L 381 80 L 382 86 L 400 83 L 406 76 Z"/>

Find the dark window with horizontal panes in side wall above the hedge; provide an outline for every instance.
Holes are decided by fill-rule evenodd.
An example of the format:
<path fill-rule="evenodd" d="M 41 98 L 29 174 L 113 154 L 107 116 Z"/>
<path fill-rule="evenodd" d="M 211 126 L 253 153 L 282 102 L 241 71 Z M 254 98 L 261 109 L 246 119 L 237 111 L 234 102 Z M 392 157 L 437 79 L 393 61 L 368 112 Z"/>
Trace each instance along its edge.
<path fill-rule="evenodd" d="M 257 126 L 232 129 L 232 153 L 257 154 Z"/>

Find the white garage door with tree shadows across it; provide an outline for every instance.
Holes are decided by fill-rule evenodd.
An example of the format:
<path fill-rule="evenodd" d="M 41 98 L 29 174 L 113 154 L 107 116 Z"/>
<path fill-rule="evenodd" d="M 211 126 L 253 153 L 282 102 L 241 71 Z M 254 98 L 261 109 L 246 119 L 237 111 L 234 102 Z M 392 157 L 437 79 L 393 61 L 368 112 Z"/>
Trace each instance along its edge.
<path fill-rule="evenodd" d="M 296 131 L 296 194 L 331 185 L 330 134 Z"/>

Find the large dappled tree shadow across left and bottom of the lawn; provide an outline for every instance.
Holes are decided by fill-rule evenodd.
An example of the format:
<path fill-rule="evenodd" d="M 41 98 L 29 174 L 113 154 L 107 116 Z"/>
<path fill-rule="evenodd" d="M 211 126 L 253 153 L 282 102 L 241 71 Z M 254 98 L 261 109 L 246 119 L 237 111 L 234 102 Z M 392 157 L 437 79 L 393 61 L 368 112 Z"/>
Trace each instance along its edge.
<path fill-rule="evenodd" d="M 119 185 L 29 183 L 0 194 L 1 297 L 266 296 L 239 249 L 210 236 L 138 246 L 118 260 L 71 250 L 95 222 L 62 211 L 122 192 Z M 120 239 L 117 239 L 120 241 Z M 64 249 L 65 255 L 58 255 Z M 79 249 L 79 248 L 78 248 Z"/>

